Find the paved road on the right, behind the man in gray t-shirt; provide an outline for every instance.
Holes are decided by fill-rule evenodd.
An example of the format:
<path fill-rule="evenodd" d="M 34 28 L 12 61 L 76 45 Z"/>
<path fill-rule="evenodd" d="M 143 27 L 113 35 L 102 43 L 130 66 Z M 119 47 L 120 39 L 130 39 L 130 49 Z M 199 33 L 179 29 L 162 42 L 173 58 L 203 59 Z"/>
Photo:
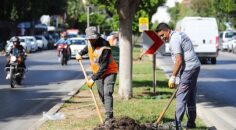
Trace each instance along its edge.
<path fill-rule="evenodd" d="M 172 70 L 169 56 L 157 56 L 157 66 Z M 236 130 L 236 55 L 220 52 L 217 64 L 203 64 L 198 79 L 198 114 L 212 129 Z"/>

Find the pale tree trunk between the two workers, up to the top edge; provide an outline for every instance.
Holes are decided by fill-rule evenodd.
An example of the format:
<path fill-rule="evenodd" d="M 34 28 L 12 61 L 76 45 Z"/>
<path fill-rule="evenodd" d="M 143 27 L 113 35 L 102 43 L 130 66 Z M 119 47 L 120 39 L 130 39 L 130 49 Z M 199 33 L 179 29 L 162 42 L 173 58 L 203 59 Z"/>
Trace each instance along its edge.
<path fill-rule="evenodd" d="M 125 100 L 132 97 L 132 21 L 139 0 L 120 0 L 118 13 L 120 22 L 119 44 L 119 96 Z"/>

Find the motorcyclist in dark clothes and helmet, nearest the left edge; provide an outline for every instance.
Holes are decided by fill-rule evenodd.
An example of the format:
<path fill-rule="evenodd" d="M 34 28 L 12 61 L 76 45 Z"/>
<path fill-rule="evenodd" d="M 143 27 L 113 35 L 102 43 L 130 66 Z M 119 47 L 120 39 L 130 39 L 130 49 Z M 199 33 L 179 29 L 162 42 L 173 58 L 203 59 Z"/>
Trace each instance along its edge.
<path fill-rule="evenodd" d="M 20 39 L 19 37 L 15 36 L 11 39 L 11 42 L 13 43 L 13 46 L 11 46 L 11 49 L 9 52 L 6 53 L 7 55 L 7 63 L 6 63 L 6 71 L 7 71 L 7 76 L 6 79 L 10 78 L 10 73 L 9 73 L 9 67 L 10 67 L 10 55 L 15 55 L 16 51 L 18 56 L 21 57 L 22 62 L 19 63 L 19 67 L 23 67 L 24 69 L 26 68 L 25 66 L 25 59 L 26 59 L 26 54 L 25 54 L 25 49 L 24 47 L 20 44 Z M 23 72 L 23 78 L 25 78 L 24 72 Z"/>

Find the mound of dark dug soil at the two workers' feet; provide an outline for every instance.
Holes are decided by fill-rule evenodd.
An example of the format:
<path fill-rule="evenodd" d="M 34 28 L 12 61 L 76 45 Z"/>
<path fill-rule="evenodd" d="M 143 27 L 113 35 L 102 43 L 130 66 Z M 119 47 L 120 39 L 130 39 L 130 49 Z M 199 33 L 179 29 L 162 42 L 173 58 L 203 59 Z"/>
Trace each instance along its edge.
<path fill-rule="evenodd" d="M 154 123 L 138 124 L 137 121 L 130 117 L 111 119 L 103 124 L 98 125 L 94 130 L 172 130 L 172 126 L 157 125 Z"/>

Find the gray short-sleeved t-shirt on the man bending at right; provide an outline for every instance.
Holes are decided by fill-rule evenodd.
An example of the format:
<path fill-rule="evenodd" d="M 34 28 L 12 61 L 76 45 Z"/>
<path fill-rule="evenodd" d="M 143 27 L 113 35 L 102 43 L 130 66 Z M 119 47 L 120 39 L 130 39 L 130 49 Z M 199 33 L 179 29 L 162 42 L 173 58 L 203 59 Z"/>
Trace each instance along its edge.
<path fill-rule="evenodd" d="M 175 55 L 182 54 L 184 63 L 182 67 L 184 70 L 192 70 L 201 65 L 193 48 L 190 38 L 182 33 L 171 31 L 170 33 L 170 51 L 172 60 L 175 63 Z"/>

